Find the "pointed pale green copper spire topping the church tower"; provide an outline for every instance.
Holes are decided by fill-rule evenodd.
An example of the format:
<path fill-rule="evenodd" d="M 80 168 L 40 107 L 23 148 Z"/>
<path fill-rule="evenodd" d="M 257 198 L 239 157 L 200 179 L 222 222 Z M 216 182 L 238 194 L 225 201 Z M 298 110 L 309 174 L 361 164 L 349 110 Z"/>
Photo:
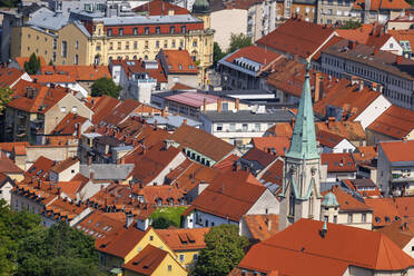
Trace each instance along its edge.
<path fill-rule="evenodd" d="M 317 159 L 314 110 L 310 96 L 310 62 L 306 65 L 305 82 L 302 91 L 290 147 L 286 157 L 296 159 Z"/>

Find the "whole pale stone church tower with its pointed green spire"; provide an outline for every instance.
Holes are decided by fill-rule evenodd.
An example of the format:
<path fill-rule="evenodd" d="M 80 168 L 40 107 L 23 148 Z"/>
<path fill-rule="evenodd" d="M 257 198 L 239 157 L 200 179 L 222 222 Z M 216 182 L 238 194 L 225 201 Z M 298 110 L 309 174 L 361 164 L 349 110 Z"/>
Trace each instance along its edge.
<path fill-rule="evenodd" d="M 309 67 L 306 66 L 296 122 L 289 150 L 285 155 L 280 197 L 279 230 L 300 218 L 321 217 L 321 156 L 315 136 Z"/>

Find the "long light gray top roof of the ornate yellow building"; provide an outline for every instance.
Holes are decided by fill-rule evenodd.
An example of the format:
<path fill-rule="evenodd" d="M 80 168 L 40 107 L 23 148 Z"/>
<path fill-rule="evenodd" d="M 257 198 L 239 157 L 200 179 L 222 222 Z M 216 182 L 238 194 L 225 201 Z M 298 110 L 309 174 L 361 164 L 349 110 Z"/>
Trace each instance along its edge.
<path fill-rule="evenodd" d="M 152 17 L 116 17 L 116 18 L 97 18 L 93 21 L 103 21 L 105 26 L 126 26 L 126 24 L 162 24 L 162 23 L 199 23 L 203 20 L 190 14 L 177 16 L 152 16 Z"/>

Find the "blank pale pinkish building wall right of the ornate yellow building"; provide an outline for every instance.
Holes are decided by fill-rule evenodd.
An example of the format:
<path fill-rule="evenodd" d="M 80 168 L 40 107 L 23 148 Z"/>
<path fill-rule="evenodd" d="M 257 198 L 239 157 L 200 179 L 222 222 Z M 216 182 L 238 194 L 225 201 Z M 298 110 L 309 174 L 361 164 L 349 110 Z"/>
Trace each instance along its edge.
<path fill-rule="evenodd" d="M 223 51 L 227 51 L 231 33 L 247 33 L 247 10 L 225 9 L 211 12 L 211 29 L 216 30 L 214 41 Z"/>

